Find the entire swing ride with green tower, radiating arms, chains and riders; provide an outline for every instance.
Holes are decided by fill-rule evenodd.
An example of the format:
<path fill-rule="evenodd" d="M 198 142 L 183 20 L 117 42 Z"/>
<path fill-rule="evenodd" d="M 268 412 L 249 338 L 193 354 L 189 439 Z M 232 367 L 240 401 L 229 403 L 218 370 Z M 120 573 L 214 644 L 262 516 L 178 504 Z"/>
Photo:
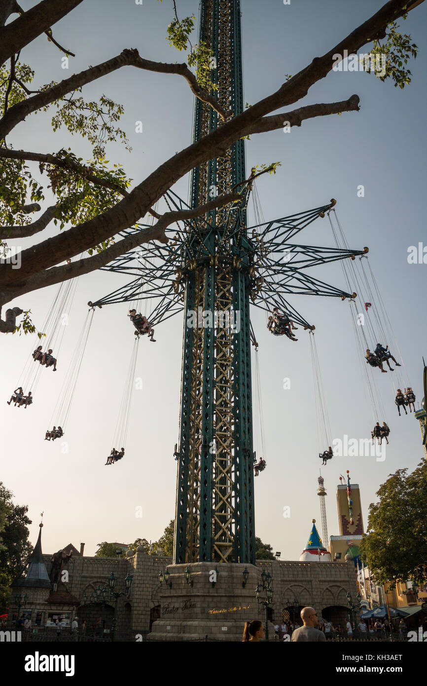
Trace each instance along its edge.
<path fill-rule="evenodd" d="M 199 40 L 206 41 L 215 56 L 217 67 L 212 69 L 215 93 L 225 110 L 238 115 L 244 108 L 239 0 L 204 2 L 201 7 Z M 199 141 L 220 125 L 217 113 L 196 99 L 193 140 Z M 112 449 L 106 464 L 120 460 L 129 428 L 139 340 L 144 335 L 155 340 L 154 331 L 158 335 L 161 324 L 184 313 L 180 429 L 174 453 L 178 462 L 174 549 L 177 564 L 208 560 L 254 563 L 254 475 L 263 471 L 266 462 L 262 421 L 263 455 L 258 462 L 254 453 L 251 344 L 256 348 L 258 413 L 262 407 L 258 343 L 250 321 L 251 306 L 265 311 L 269 332 L 281 342 L 297 342 L 294 332 L 298 327 L 309 333 L 315 397 L 323 426 L 324 445 L 319 445 L 322 450 L 319 457 L 327 464 L 333 454 L 332 436 L 315 346 L 315 326 L 295 309 L 291 296 L 348 300 L 358 357 L 365 368 L 363 375 L 372 418 L 375 427 L 379 421 L 383 422 L 379 431 L 374 427 L 372 440 L 387 440 L 389 435 L 374 374 L 378 373 L 375 367 L 381 375 L 387 371 L 383 364 L 390 367 L 388 346 L 393 346 L 394 351 L 398 348 L 367 259 L 368 250 L 348 246 L 337 220 L 334 199 L 314 209 L 248 226 L 249 197 L 255 196 L 257 207 L 256 182 L 265 171 L 269 169 L 252 169 L 249 175 L 246 173 L 245 141 L 241 139 L 223 156 L 193 169 L 188 203 L 171 189 L 165 193 L 164 202 L 169 209 L 178 211 L 206 204 L 212 199 L 212 191 L 215 195 L 238 192 L 240 199 L 178 222 L 166 230 L 169 239 L 166 244 L 154 241 L 143 244 L 103 268 L 125 274 L 128 281 L 114 292 L 88 303 L 90 311 L 75 359 L 49 423 L 60 421 L 61 431 L 66 427 L 95 307 L 130 304 L 127 307 L 130 307 L 136 335 L 132 336 L 129 370 L 113 439 L 114 446 L 123 447 L 121 452 Z M 334 247 L 300 244 L 304 228 L 328 220 Z M 125 238 L 144 226 L 148 224 L 138 224 L 119 235 Z M 298 242 L 293 242 L 295 239 Z M 334 261 L 343 265 L 346 290 L 307 273 L 310 268 Z M 360 314 L 352 283 L 365 305 L 365 327 L 358 325 Z M 72 297 L 75 289 L 72 284 L 69 281 L 60 286 L 57 300 Z M 138 311 L 142 305 L 145 314 Z M 61 311 L 59 307 L 58 312 Z M 239 327 L 236 327 L 237 317 Z M 59 322 L 58 314 L 47 322 L 49 343 L 58 335 Z M 34 389 L 42 365 L 32 367 L 32 364 L 30 360 L 25 383 L 27 388 Z M 400 414 L 400 408 L 404 407 L 406 412 L 405 403 L 415 401 L 415 396 L 411 395 L 409 385 L 402 391 L 400 372 L 395 370 L 393 374 L 397 380 L 393 388 Z"/>

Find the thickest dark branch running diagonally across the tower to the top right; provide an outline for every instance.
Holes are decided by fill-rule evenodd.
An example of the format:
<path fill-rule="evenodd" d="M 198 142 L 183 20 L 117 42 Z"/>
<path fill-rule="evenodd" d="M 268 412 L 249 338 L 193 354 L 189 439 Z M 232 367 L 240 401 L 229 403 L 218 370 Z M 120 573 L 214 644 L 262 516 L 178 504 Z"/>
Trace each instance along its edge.
<path fill-rule="evenodd" d="M 43 270 L 57 265 L 66 257 L 77 255 L 112 237 L 119 230 L 135 224 L 188 171 L 215 156 L 225 154 L 230 145 L 241 138 L 245 131 L 261 117 L 304 97 L 309 88 L 324 78 L 332 69 L 334 54 L 343 54 L 344 49 L 347 49 L 349 54 L 356 52 L 371 40 L 371 36 L 375 36 L 390 21 L 404 14 L 407 11 L 406 2 L 405 0 L 389 0 L 374 16 L 371 16 L 349 36 L 341 40 L 324 56 L 315 58 L 308 67 L 280 86 L 276 93 L 260 100 L 241 115 L 232 118 L 223 126 L 169 158 L 129 193 L 129 196 L 118 202 L 110 210 L 83 222 L 79 226 L 66 230 L 49 239 L 49 241 L 42 241 L 42 243 L 24 250 L 21 253 L 21 258 L 27 276 L 26 290 L 23 290 L 25 289 L 23 276 L 17 273 L 19 270 L 12 271 L 10 265 L 1 265 L 0 288 L 9 294 L 14 294 L 17 285 L 19 285 L 19 293 L 47 285 L 47 272 L 43 272 Z M 101 65 L 100 68 L 104 66 Z M 10 113 L 12 113 L 12 108 L 8 115 Z M 36 283 L 38 285 L 34 285 Z"/>

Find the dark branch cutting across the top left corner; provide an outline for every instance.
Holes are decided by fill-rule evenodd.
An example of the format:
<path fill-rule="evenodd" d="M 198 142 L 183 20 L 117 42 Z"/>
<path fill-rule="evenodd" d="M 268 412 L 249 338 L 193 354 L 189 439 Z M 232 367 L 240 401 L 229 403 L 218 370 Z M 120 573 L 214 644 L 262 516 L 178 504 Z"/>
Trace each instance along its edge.
<path fill-rule="evenodd" d="M 18 19 L 0 28 L 0 64 L 50 29 L 81 2 L 82 0 L 42 0 Z"/>

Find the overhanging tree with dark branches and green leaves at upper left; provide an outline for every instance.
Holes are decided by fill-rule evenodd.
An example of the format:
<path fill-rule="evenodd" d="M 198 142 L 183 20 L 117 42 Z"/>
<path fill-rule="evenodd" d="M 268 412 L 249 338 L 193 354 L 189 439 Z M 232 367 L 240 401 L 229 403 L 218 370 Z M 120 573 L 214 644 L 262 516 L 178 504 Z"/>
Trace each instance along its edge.
<path fill-rule="evenodd" d="M 0 110 L 0 236 L 1 239 L 31 235 L 43 237 L 52 220 L 62 229 L 57 235 L 42 239 L 21 252 L 22 270 L 12 269 L 7 262 L 0 263 L 0 311 L 2 305 L 14 298 L 96 270 L 133 247 L 153 240 L 167 240 L 164 234 L 164 228 L 169 226 L 167 218 L 161 218 L 153 227 L 136 228 L 134 234 L 121 241 L 115 237 L 121 230 L 141 222 L 164 193 L 183 176 L 198 165 L 223 156 L 242 137 L 282 128 L 284 122 L 289 126 L 301 126 L 303 121 L 313 117 L 357 111 L 359 98 L 352 95 L 341 102 L 318 103 L 271 114 L 289 108 L 305 97 L 314 84 L 326 78 L 336 54 L 343 55 L 345 50 L 347 54 L 354 54 L 369 43 L 374 51 L 387 45 L 390 62 L 385 78 L 391 78 L 403 87 L 408 83 L 405 60 L 416 56 L 416 46 L 410 42 L 410 36 L 399 34 L 395 22 L 406 17 L 421 1 L 389 0 L 323 56 L 314 58 L 292 77 L 287 76 L 277 91 L 236 116 L 223 110 L 217 101 L 210 49 L 203 43 L 191 43 L 194 16 L 180 20 L 175 3 L 167 40 L 177 49 L 188 51 L 187 64 L 152 62 L 141 57 L 136 49 L 124 49 L 118 56 L 96 67 L 88 67 L 59 83 L 51 82 L 35 89 L 28 87 L 34 80 L 34 71 L 19 61 L 19 51 L 36 36 L 49 31 L 43 10 L 52 10 L 53 23 L 80 2 L 43 0 L 32 10 L 21 14 L 19 19 L 0 26 L 0 64 L 3 64 L 0 67 L 0 102 L 3 103 Z M 11 12 L 16 11 L 15 3 L 8 3 L 8 6 Z M 380 40 L 384 38 L 386 43 L 383 45 Z M 5 60 L 12 60 L 9 68 L 5 67 Z M 114 165 L 111 168 L 105 159 L 106 145 L 110 141 L 119 139 L 129 149 L 125 132 L 117 125 L 123 114 L 122 106 L 105 95 L 99 102 L 86 102 L 80 95 L 87 84 L 127 66 L 181 75 L 195 97 L 208 104 L 223 119 L 216 130 L 180 150 L 146 178 L 138 179 L 133 187 L 123 167 Z M 40 115 L 52 109 L 52 126 L 58 136 L 65 127 L 72 134 L 88 140 L 93 158 L 89 163 L 84 164 L 64 145 L 58 146 L 58 152 L 51 153 L 16 150 L 7 143 L 8 134 L 28 115 Z M 48 189 L 55 198 L 55 204 L 50 201 L 44 210 L 41 203 L 46 200 L 45 188 L 26 164 L 32 162 L 38 163 L 40 174 L 49 178 Z M 204 207 L 195 209 L 198 215 L 203 215 Z M 32 215 L 40 211 L 41 215 L 34 220 Z M 67 259 L 88 251 L 96 251 L 97 255 L 62 265 Z"/>

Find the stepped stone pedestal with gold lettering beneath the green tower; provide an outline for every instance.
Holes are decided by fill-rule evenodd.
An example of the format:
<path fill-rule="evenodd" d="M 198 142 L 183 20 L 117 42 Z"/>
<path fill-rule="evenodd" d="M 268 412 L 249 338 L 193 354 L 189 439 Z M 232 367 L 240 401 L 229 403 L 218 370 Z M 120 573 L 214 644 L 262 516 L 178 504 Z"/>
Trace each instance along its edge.
<path fill-rule="evenodd" d="M 190 571 L 191 587 L 185 570 Z M 218 570 L 215 580 L 215 569 Z M 243 587 L 243 571 L 249 576 Z M 265 622 L 265 608 L 258 605 L 255 589 L 261 581 L 261 569 L 234 563 L 191 563 L 170 565 L 171 589 L 162 586 L 160 619 L 151 627 L 154 641 L 241 641 L 246 620 Z M 265 600 L 261 591 L 260 600 Z M 269 639 L 274 630 L 269 623 Z"/>

